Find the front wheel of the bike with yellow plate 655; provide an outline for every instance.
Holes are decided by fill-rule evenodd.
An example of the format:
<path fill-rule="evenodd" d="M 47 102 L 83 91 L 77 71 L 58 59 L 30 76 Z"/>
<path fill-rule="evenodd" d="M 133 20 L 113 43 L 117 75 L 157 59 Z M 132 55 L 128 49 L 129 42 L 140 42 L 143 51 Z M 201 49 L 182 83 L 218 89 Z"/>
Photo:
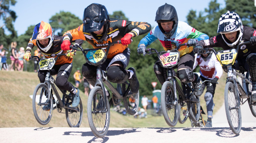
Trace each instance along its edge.
<path fill-rule="evenodd" d="M 237 95 L 237 89 L 232 82 L 226 83 L 224 102 L 230 129 L 234 134 L 239 134 L 242 124 L 240 100 Z"/>

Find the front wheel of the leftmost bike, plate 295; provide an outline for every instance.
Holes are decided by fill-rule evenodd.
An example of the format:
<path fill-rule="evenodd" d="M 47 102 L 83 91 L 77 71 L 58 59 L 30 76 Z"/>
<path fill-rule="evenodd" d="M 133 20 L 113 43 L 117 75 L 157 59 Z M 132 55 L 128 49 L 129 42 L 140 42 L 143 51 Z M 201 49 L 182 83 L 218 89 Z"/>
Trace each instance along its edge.
<path fill-rule="evenodd" d="M 49 104 L 45 105 L 48 102 L 48 96 L 48 86 L 44 83 L 39 83 L 33 93 L 32 107 L 36 121 L 41 125 L 48 124 L 52 118 L 52 95 L 50 95 Z"/>

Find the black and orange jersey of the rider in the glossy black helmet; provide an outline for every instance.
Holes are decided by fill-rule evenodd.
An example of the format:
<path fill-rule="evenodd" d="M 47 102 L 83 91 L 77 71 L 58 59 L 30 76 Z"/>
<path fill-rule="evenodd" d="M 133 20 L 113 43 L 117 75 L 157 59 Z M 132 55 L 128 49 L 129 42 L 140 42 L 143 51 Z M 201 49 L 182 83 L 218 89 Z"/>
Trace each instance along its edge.
<path fill-rule="evenodd" d="M 106 38 L 98 43 L 93 39 L 90 33 L 83 33 L 83 24 L 77 27 L 76 29 L 69 30 L 63 34 L 65 39 L 76 40 L 82 39 L 89 42 L 94 49 L 97 48 L 106 48 L 108 47 L 108 43 L 113 41 L 121 40 L 125 34 L 132 32 L 135 36 L 148 33 L 151 30 L 151 25 L 147 22 L 133 22 L 126 21 L 122 19 L 110 19 L 109 29 Z M 102 35 L 97 35 L 102 36 Z M 122 53 L 128 45 L 115 44 L 113 45 L 108 52 L 107 58 L 113 58 L 116 54 Z"/>

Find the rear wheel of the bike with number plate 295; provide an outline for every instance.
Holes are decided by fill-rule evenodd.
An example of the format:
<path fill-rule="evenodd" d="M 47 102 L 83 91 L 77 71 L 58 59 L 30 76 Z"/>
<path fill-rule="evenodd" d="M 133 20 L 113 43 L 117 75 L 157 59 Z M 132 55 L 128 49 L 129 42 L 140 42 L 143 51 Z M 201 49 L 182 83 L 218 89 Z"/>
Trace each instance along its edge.
<path fill-rule="evenodd" d="M 80 98 L 80 97 L 79 97 Z M 66 103 L 69 102 L 69 99 L 67 98 Z M 68 122 L 69 127 L 80 127 L 83 119 L 83 104 L 80 98 L 79 105 L 76 107 L 78 111 L 72 110 L 72 109 L 65 109 L 66 110 L 66 119 Z"/>

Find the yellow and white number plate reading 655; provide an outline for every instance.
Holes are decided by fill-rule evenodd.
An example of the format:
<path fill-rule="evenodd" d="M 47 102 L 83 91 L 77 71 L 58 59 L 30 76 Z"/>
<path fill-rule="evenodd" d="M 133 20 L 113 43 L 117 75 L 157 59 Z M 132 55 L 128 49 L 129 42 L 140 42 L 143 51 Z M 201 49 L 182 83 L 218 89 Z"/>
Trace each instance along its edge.
<path fill-rule="evenodd" d="M 235 63 L 237 56 L 236 49 L 218 51 L 216 57 L 222 66 L 229 66 Z"/>

